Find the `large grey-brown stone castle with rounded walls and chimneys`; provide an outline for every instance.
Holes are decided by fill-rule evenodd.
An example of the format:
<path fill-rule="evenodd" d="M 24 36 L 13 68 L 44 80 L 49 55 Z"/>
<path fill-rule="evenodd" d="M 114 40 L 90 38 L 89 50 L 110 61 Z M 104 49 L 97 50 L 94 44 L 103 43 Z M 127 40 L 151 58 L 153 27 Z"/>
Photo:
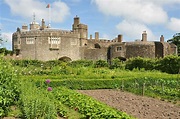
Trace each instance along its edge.
<path fill-rule="evenodd" d="M 174 44 L 164 42 L 163 35 L 158 41 L 147 41 L 147 33 L 142 33 L 142 39 L 134 42 L 123 42 L 123 36 L 114 39 L 100 39 L 99 33 L 88 38 L 88 26 L 80 23 L 75 17 L 72 30 L 53 29 L 41 25 L 35 20 L 12 35 L 12 47 L 16 57 L 33 60 L 107 60 L 113 58 L 127 59 L 131 57 L 156 58 L 177 54 Z"/>

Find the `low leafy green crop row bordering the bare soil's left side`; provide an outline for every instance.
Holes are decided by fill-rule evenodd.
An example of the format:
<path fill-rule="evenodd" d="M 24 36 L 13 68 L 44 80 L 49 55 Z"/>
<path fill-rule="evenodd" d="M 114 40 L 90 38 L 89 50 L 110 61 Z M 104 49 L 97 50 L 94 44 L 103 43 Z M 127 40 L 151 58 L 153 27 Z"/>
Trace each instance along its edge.
<path fill-rule="evenodd" d="M 95 99 L 67 88 L 57 88 L 55 91 L 55 97 L 60 102 L 83 114 L 86 119 L 133 118 L 124 112 L 119 112 L 103 103 L 96 101 Z"/>

